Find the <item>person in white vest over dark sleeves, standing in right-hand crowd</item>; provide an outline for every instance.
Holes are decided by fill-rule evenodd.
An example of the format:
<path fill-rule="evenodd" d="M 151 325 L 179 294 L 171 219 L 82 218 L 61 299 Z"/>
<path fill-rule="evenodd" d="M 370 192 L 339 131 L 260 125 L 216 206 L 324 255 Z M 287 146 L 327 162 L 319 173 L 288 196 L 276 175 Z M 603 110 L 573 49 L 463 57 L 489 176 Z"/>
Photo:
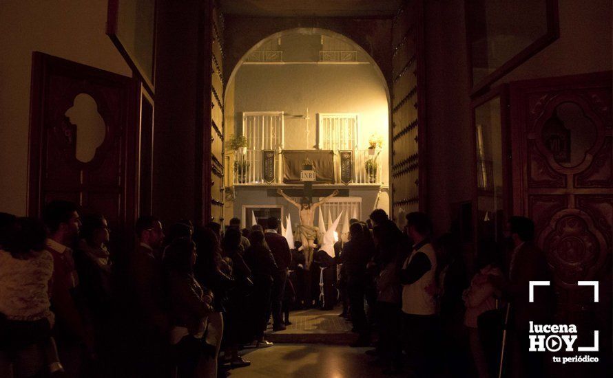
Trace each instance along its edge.
<path fill-rule="evenodd" d="M 417 377 L 429 377 L 438 338 L 435 271 L 437 258 L 430 244 L 432 223 L 423 212 L 406 214 L 406 234 L 413 240 L 411 254 L 400 271 L 403 338 L 408 368 Z"/>

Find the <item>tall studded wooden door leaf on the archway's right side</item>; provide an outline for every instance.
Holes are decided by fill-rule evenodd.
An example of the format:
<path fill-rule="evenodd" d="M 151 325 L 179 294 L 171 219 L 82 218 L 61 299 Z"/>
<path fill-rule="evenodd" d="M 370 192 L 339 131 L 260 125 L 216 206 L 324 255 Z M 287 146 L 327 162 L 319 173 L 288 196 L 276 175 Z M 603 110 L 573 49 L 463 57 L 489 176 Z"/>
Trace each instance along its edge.
<path fill-rule="evenodd" d="M 424 2 L 408 0 L 392 25 L 391 218 L 426 210 Z"/>

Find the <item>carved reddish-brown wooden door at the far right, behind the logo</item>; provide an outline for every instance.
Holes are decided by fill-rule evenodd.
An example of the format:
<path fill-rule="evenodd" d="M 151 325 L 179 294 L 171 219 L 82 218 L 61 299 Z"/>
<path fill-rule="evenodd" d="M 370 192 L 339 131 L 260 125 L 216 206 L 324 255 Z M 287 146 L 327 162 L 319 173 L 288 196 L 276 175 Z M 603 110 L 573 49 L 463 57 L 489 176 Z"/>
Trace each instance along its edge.
<path fill-rule="evenodd" d="M 605 327 L 605 339 L 613 243 L 611 82 L 605 72 L 510 86 L 514 212 L 536 225 L 554 271 L 559 320 Z M 599 303 L 578 280 L 600 281 Z"/>

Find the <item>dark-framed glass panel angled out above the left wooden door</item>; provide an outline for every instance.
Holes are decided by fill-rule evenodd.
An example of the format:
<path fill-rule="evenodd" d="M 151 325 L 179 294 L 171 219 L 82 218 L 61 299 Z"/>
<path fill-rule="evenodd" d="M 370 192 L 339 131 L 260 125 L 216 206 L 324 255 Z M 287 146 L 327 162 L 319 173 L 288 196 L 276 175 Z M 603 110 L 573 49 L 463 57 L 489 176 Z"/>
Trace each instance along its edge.
<path fill-rule="evenodd" d="M 154 93 L 156 0 L 109 0 L 107 36 Z"/>

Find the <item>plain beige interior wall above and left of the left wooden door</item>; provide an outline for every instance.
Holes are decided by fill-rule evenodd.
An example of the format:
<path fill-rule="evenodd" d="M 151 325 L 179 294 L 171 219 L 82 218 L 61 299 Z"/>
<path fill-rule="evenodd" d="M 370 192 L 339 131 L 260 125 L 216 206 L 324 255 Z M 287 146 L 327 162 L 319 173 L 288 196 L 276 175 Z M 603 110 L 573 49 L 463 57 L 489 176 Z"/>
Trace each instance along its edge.
<path fill-rule="evenodd" d="M 107 0 L 1 2 L 1 212 L 26 212 L 32 52 L 132 76 L 105 34 L 106 19 Z"/>

